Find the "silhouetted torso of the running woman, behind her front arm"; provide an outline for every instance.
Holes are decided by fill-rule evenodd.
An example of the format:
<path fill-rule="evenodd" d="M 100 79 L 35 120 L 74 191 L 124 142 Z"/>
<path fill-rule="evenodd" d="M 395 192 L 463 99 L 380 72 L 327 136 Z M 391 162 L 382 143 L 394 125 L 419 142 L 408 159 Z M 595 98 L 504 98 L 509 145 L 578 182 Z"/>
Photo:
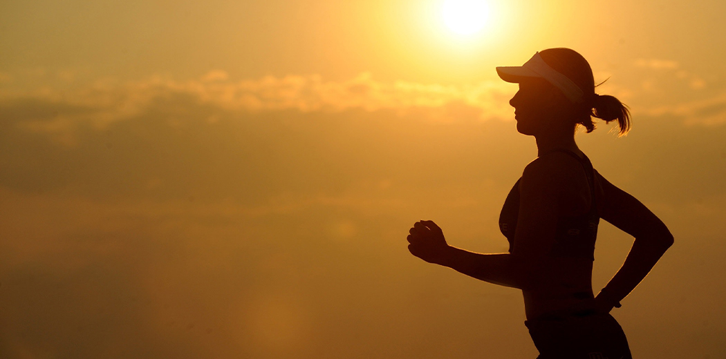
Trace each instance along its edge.
<path fill-rule="evenodd" d="M 528 319 L 543 316 L 572 315 L 572 308 L 582 308 L 592 300 L 592 262 L 597 235 L 597 194 L 596 175 L 587 157 L 574 152 L 558 149 L 553 153 L 567 154 L 576 160 L 571 165 L 582 170 L 560 198 L 555 244 L 547 253 L 539 280 L 534 288 L 523 290 L 526 316 Z M 542 157 L 540 156 L 540 157 Z M 507 196 L 502 213 L 499 215 L 499 228 L 510 242 L 512 252 L 519 212 L 519 181 Z"/>

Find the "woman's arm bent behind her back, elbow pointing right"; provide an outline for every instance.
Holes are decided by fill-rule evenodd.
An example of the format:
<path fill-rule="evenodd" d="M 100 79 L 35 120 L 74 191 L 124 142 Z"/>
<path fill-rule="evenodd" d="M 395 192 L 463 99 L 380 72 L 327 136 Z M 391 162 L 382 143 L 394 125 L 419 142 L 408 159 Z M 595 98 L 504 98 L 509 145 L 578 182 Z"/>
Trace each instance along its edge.
<path fill-rule="evenodd" d="M 635 197 L 613 186 L 599 173 L 597 180 L 601 194 L 600 217 L 635 237 L 625 263 L 597 294 L 597 300 L 619 307 L 619 302 L 643 281 L 671 247 L 673 236 L 666 225 Z"/>

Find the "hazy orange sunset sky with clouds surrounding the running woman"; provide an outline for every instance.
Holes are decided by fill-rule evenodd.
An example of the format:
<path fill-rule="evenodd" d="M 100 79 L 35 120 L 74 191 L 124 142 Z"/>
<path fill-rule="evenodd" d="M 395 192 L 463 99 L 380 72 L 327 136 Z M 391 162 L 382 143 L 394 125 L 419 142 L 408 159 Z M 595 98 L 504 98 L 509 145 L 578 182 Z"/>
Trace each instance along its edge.
<path fill-rule="evenodd" d="M 505 252 L 537 155 L 494 67 L 570 47 L 632 131 L 576 135 L 675 244 L 613 310 L 636 358 L 726 356 L 723 1 L 0 1 L 1 358 L 534 358 Z M 451 2 L 451 1 L 449 1 Z M 632 238 L 603 223 L 597 292 Z"/>

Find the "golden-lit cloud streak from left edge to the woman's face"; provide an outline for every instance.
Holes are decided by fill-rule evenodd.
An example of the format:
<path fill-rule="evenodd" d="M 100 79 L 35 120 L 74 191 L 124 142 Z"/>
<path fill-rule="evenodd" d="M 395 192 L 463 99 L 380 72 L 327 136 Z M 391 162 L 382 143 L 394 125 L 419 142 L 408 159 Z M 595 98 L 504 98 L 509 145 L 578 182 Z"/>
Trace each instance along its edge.
<path fill-rule="evenodd" d="M 154 75 L 141 81 L 121 83 L 106 79 L 90 86 L 69 89 L 39 86 L 30 90 L 0 91 L 0 106 L 12 109 L 4 117 L 25 121 L 34 131 L 58 131 L 74 121 L 102 128 L 137 116 L 173 97 L 232 112 L 341 112 L 346 110 L 446 109 L 469 107 L 481 119 L 510 118 L 507 103 L 515 87 L 501 81 L 444 86 L 410 81 L 382 82 L 362 73 L 348 81 L 324 81 L 319 75 L 266 76 L 256 80 L 229 81 L 229 75 L 213 70 L 197 80 L 176 81 Z M 43 103 L 54 110 L 38 112 L 23 104 Z M 73 111 L 65 109 L 73 108 Z"/>

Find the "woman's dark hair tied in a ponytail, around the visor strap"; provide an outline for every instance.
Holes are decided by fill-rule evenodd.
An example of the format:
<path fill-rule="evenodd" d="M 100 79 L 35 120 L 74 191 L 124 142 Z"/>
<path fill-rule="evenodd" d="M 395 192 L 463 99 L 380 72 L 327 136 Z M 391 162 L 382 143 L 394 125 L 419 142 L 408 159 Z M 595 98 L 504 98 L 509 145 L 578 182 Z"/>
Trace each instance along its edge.
<path fill-rule="evenodd" d="M 583 125 L 587 133 L 595 130 L 592 117 L 605 120 L 605 123 L 618 120 L 620 131 L 618 136 L 625 136 L 630 131 L 630 111 L 628 107 L 610 95 L 595 94 L 595 77 L 587 60 L 572 49 L 556 48 L 539 51 L 547 65 L 567 76 L 584 94 L 582 104 L 573 104 L 576 123 Z"/>

